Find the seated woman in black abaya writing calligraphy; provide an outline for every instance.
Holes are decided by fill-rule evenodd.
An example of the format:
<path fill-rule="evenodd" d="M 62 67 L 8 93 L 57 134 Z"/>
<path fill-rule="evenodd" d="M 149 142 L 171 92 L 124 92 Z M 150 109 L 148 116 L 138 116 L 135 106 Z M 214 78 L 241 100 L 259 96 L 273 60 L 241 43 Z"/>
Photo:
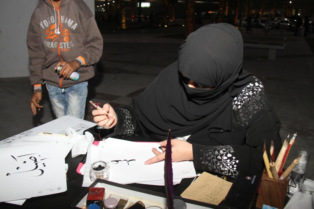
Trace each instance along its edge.
<path fill-rule="evenodd" d="M 281 147 L 280 122 L 263 84 L 242 69 L 243 40 L 230 24 L 210 24 L 191 33 L 178 61 L 166 67 L 130 105 L 93 110 L 108 137 L 133 134 L 171 140 L 172 161 L 193 160 L 195 169 L 236 176 L 240 169 L 262 171 L 263 144 Z M 112 118 L 104 115 L 104 110 Z M 186 140 L 186 141 L 185 141 Z M 151 164 L 165 153 L 153 149 Z M 278 153 L 278 150 L 275 150 Z"/>

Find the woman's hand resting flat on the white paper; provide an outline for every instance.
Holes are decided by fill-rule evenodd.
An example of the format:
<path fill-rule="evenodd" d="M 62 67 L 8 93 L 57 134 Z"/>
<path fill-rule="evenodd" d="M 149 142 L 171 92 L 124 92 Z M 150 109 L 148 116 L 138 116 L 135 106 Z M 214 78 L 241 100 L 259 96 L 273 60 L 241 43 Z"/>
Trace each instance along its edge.
<path fill-rule="evenodd" d="M 156 163 L 159 161 L 162 161 L 165 159 L 165 146 L 167 145 L 167 140 L 159 142 L 161 145 L 161 150 L 163 151 L 162 153 L 159 152 L 157 149 L 153 148 L 152 151 L 156 155 L 153 158 L 150 158 L 147 160 L 144 164 L 149 165 L 152 163 Z M 171 139 L 171 158 L 172 162 L 179 162 L 183 160 L 193 160 L 193 149 L 192 149 L 192 144 L 180 139 Z"/>

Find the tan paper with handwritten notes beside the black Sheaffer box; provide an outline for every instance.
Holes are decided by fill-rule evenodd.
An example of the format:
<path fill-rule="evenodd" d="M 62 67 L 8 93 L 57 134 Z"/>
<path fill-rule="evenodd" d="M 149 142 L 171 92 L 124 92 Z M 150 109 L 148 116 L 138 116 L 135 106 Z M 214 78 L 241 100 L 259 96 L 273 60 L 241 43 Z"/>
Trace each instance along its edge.
<path fill-rule="evenodd" d="M 218 205 L 228 194 L 232 183 L 203 172 L 181 197 Z"/>

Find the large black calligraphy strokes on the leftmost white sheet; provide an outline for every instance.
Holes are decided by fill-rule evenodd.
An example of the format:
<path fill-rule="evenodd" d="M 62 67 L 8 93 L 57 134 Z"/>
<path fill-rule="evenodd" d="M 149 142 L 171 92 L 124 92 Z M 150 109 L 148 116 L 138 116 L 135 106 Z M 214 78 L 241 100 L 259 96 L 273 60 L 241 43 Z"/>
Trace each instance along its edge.
<path fill-rule="evenodd" d="M 30 175 L 30 176 L 41 176 L 42 174 L 44 174 L 43 167 L 46 167 L 46 163 L 44 162 L 44 160 L 49 159 L 49 158 L 42 157 L 39 153 L 30 153 L 30 154 L 20 155 L 17 157 L 14 157 L 13 155 L 11 155 L 11 157 L 17 163 L 26 163 L 27 167 L 33 167 L 33 168 L 32 169 L 28 168 L 26 171 L 7 173 L 6 176 L 10 176 L 11 174 L 25 173 L 25 172 L 31 172 L 31 171 L 37 171 L 36 174 L 38 175 Z M 21 170 L 21 167 L 24 168 L 25 166 L 17 166 L 16 169 Z"/>

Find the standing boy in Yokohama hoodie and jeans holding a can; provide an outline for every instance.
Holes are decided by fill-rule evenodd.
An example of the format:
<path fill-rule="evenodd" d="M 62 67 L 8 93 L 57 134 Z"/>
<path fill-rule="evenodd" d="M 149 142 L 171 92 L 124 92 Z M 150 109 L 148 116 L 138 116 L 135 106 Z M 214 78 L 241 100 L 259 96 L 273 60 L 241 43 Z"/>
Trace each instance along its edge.
<path fill-rule="evenodd" d="M 32 14 L 27 32 L 30 82 L 34 86 L 31 110 L 42 98 L 46 82 L 52 110 L 57 118 L 84 118 L 87 80 L 95 76 L 94 64 L 102 55 L 103 39 L 95 18 L 83 0 L 42 0 Z M 57 72 L 58 66 L 63 66 Z M 72 72 L 79 79 L 69 79 Z"/>

